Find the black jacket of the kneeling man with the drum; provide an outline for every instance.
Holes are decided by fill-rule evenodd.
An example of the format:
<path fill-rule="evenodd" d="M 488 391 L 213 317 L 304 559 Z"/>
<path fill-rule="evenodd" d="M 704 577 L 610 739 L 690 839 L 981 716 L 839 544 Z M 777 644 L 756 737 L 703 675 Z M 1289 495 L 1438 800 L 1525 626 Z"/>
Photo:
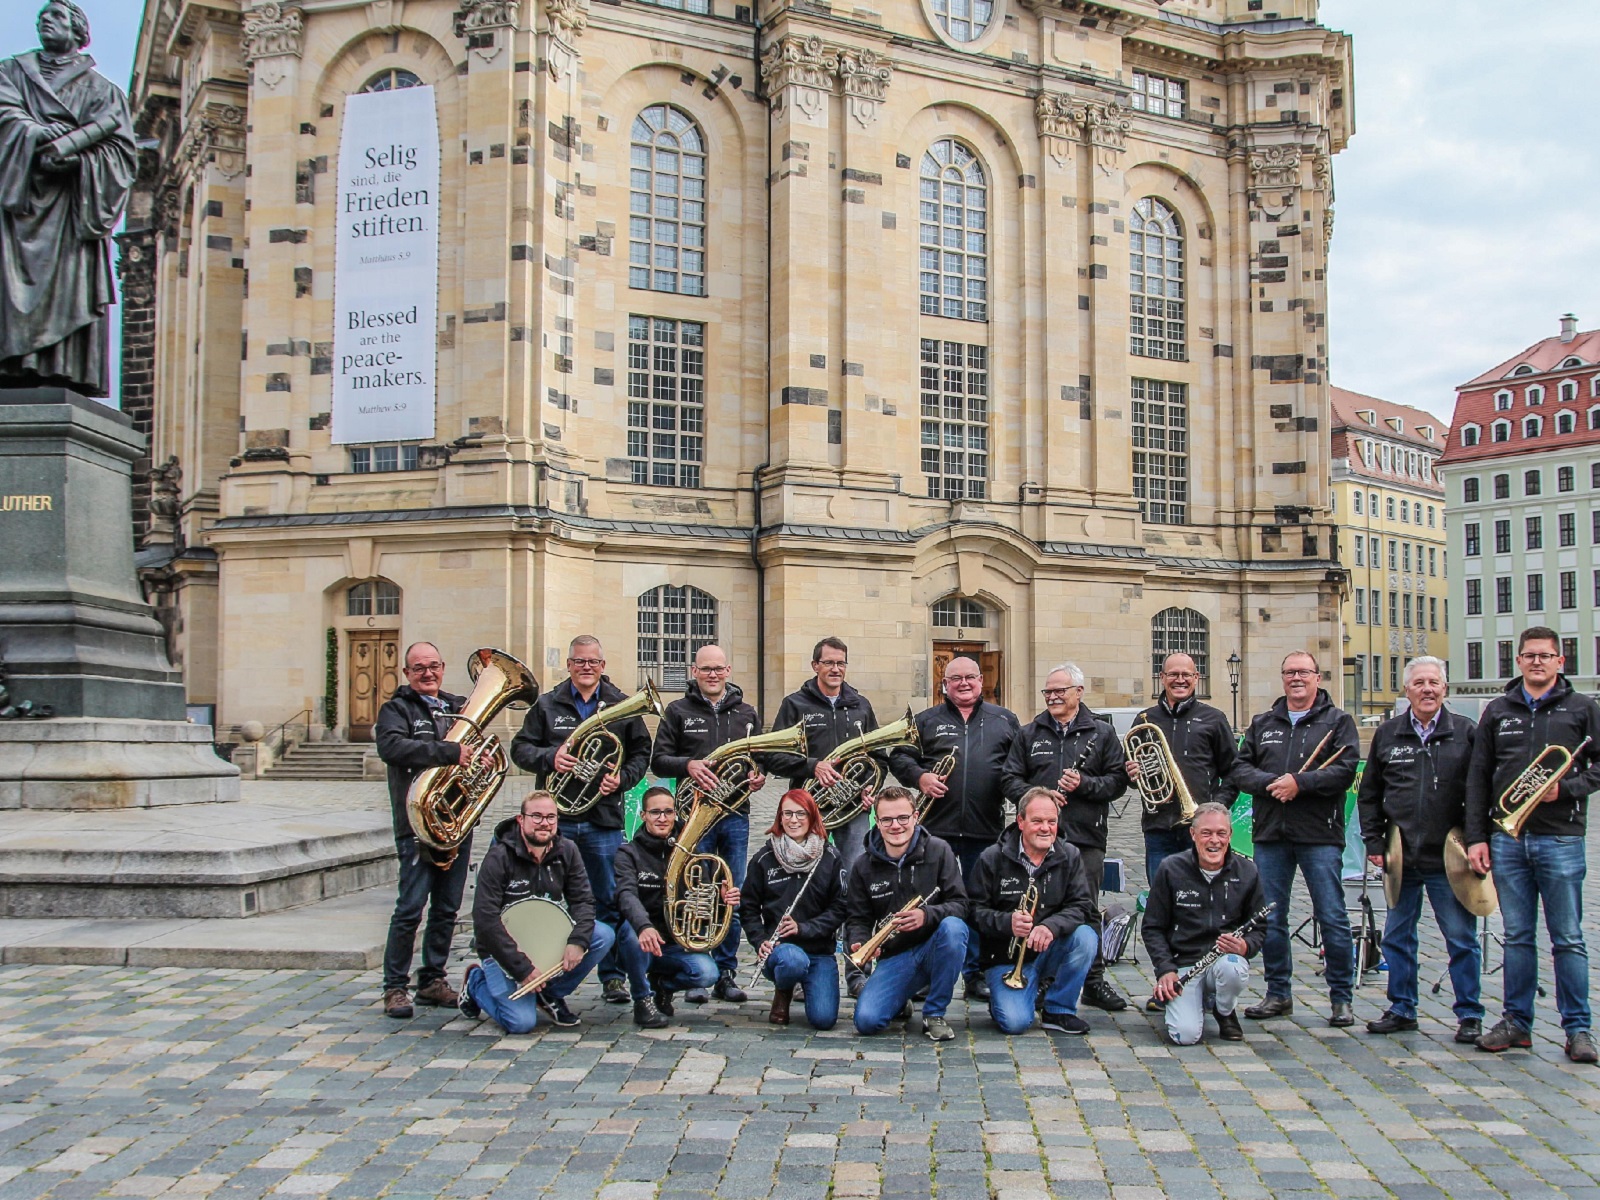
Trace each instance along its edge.
<path fill-rule="evenodd" d="M 517 818 L 509 816 L 494 826 L 494 845 L 478 864 L 478 890 L 472 898 L 472 936 L 478 944 L 478 954 L 494 958 L 512 979 L 528 978 L 533 963 L 506 933 L 501 914 L 507 904 L 533 896 L 552 899 L 565 907 L 566 915 L 573 918 L 568 946 L 589 949 L 595 931 L 595 898 L 589 890 L 589 874 L 584 870 L 578 843 L 557 835 L 544 851 L 544 861 L 534 862 L 522 840 Z"/>

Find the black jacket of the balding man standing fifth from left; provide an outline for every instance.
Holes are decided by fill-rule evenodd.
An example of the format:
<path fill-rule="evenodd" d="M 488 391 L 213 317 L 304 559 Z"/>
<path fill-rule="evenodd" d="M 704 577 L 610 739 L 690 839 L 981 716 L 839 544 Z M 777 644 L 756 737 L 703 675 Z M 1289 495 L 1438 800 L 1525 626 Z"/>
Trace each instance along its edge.
<path fill-rule="evenodd" d="M 979 701 L 973 715 L 942 701 L 917 714 L 920 754 L 901 746 L 890 754 L 894 778 L 917 790 L 923 771 L 955 750 L 955 771 L 946 781 L 949 792 L 928 805 L 922 827 L 939 837 L 981 837 L 994 842 L 1005 827 L 1005 760 L 1019 733 L 1016 714 L 998 704 Z"/>

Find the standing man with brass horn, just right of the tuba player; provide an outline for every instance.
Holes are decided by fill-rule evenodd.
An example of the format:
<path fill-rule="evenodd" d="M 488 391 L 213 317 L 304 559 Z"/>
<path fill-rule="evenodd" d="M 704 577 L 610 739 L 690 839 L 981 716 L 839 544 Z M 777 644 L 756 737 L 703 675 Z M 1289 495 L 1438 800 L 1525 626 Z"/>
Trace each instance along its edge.
<path fill-rule="evenodd" d="M 510 760 L 522 770 L 542 776 L 549 787 L 550 774 L 571 771 L 578 765 L 568 746 L 578 723 L 594 717 L 602 704 L 619 704 L 627 696 L 605 674 L 600 638 L 590 634 L 574 637 L 566 648 L 566 678 L 528 709 L 522 730 L 512 739 Z M 622 845 L 622 797 L 645 778 L 650 766 L 650 731 L 642 717 L 629 717 L 610 726 L 610 731 L 622 742 L 622 766 L 600 781 L 600 803 L 578 818 L 562 821 L 562 837 L 578 843 L 595 896 L 595 917 L 614 930 L 618 910 L 613 862 Z M 600 960 L 600 995 L 610 1005 L 626 1005 L 629 1000 L 616 947 Z"/>

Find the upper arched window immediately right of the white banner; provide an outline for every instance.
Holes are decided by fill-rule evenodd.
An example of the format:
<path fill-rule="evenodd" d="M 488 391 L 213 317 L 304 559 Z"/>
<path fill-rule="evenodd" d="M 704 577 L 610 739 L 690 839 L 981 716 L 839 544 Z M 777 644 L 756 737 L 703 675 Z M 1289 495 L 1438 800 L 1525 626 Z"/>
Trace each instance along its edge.
<path fill-rule="evenodd" d="M 627 285 L 706 294 L 706 139 L 669 104 L 634 118 Z"/>

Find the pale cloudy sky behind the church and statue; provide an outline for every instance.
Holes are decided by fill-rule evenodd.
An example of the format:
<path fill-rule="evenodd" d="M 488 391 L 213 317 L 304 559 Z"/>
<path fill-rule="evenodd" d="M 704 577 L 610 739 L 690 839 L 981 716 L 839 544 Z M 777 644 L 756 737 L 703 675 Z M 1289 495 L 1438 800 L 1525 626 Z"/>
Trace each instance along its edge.
<path fill-rule="evenodd" d="M 32 0 L 0 0 L 24 14 Z M 138 0 L 86 0 L 126 86 Z M 1355 138 L 1334 160 L 1333 382 L 1448 418 L 1454 386 L 1600 326 L 1600 3 L 1323 0 L 1355 38 Z M 0 54 L 35 45 L 0 22 Z"/>

